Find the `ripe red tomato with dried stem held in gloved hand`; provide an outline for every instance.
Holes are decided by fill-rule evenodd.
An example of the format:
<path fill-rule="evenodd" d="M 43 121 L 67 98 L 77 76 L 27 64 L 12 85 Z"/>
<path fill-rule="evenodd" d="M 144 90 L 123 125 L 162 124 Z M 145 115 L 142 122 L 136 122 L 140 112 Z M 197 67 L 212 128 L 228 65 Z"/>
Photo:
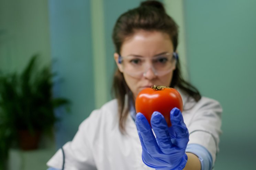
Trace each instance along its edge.
<path fill-rule="evenodd" d="M 135 101 L 136 112 L 142 113 L 150 124 L 154 111 L 160 112 L 170 127 L 170 112 L 177 107 L 182 112 L 183 102 L 180 93 L 170 87 L 154 86 L 140 91 Z"/>

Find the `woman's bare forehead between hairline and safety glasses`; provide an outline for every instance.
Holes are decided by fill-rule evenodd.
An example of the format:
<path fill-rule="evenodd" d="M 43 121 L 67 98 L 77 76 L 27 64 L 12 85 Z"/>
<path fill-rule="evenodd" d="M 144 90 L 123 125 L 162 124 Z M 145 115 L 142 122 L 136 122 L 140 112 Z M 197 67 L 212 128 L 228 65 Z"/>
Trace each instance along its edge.
<path fill-rule="evenodd" d="M 138 30 L 122 43 L 122 55 L 137 54 L 152 56 L 161 52 L 172 52 L 173 44 L 167 33 Z"/>

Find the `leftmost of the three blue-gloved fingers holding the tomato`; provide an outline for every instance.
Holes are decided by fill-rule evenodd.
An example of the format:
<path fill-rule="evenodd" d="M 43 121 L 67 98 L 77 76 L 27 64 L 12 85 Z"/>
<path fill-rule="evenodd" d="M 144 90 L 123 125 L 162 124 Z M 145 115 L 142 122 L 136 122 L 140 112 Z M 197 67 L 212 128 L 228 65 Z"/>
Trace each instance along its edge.
<path fill-rule="evenodd" d="M 159 147 L 157 145 L 156 138 L 151 130 L 151 126 L 149 125 L 146 117 L 141 113 L 137 113 L 135 123 L 136 123 L 137 131 L 138 133 L 140 133 L 141 139 L 148 153 L 149 154 L 159 153 Z"/>

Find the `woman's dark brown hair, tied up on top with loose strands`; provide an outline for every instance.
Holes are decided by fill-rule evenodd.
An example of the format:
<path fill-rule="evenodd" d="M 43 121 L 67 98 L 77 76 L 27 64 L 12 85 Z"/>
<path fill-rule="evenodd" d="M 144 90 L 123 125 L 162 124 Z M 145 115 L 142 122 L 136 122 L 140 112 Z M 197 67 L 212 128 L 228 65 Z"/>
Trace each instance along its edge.
<path fill-rule="evenodd" d="M 172 41 L 173 49 L 176 51 L 178 46 L 178 25 L 166 14 L 161 2 L 154 0 L 144 1 L 141 2 L 139 7 L 119 16 L 112 34 L 116 52 L 120 54 L 121 46 L 125 39 L 140 29 L 167 33 Z M 170 87 L 174 86 L 179 87 L 195 101 L 201 98 L 199 91 L 182 78 L 179 60 L 177 60 L 170 84 Z M 129 107 L 125 108 L 125 95 L 128 97 L 128 105 L 134 105 L 134 98 L 123 74 L 118 69 L 114 75 L 112 90 L 118 101 L 119 128 L 124 133 L 125 122 L 129 114 Z"/>

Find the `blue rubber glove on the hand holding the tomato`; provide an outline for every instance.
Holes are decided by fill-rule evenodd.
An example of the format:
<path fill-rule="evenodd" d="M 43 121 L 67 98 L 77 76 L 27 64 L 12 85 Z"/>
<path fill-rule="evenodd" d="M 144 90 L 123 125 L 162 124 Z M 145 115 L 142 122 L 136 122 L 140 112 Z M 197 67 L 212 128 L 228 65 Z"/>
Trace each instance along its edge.
<path fill-rule="evenodd" d="M 159 170 L 180 170 L 186 165 L 188 129 L 178 108 L 171 110 L 170 119 L 172 126 L 168 127 L 161 113 L 152 114 L 150 122 L 155 137 L 145 116 L 141 113 L 136 115 L 136 126 L 142 146 L 142 161 L 148 167 Z"/>

